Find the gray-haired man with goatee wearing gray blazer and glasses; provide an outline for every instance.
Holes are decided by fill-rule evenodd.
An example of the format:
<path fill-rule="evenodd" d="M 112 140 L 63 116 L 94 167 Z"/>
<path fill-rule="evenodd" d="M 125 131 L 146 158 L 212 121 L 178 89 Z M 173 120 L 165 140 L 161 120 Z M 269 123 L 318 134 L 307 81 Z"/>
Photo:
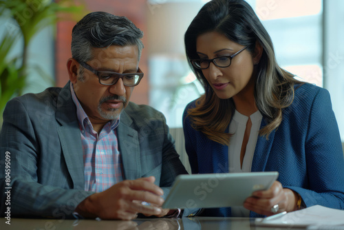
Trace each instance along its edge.
<path fill-rule="evenodd" d="M 65 87 L 8 102 L 1 216 L 131 220 L 176 213 L 161 209 L 162 198 L 187 172 L 165 118 L 129 103 L 143 76 L 142 35 L 125 17 L 87 14 L 72 32 Z"/>

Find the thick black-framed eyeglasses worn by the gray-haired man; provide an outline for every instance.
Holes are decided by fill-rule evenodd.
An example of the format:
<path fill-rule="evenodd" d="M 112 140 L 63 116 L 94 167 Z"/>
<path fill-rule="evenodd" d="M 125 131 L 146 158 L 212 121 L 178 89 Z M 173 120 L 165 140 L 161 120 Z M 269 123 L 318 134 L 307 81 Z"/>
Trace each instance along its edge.
<path fill-rule="evenodd" d="M 136 86 L 140 83 L 143 77 L 143 73 L 140 68 L 138 68 L 138 73 L 119 74 L 116 72 L 94 70 L 94 68 L 85 62 L 80 62 L 80 65 L 96 74 L 98 76 L 99 83 L 102 85 L 115 85 L 118 79 L 122 79 L 123 85 Z"/>

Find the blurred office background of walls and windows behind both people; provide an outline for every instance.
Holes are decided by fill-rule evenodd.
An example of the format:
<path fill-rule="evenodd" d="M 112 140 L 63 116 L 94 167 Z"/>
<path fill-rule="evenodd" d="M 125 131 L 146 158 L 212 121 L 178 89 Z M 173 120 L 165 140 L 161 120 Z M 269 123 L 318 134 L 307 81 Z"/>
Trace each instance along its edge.
<path fill-rule="evenodd" d="M 11 1 L 11 0 L 8 0 Z M 31 0 L 41 1 L 41 0 Z M 46 0 L 45 0 L 46 1 Z M 266 26 L 279 64 L 303 81 L 330 91 L 332 106 L 344 142 L 344 1 L 247 0 Z M 58 1 L 56 1 L 58 2 Z M 75 0 L 85 12 L 105 11 L 126 16 L 144 32 L 140 67 L 144 79 L 131 101 L 148 104 L 166 116 L 172 128 L 182 127 L 187 103 L 203 93 L 184 54 L 184 32 L 204 0 Z M 23 15 L 32 17 L 31 12 Z M 70 54 L 72 19 L 59 21 L 34 36 L 28 48 L 29 65 L 37 65 L 49 77 L 31 71 L 23 93 L 67 83 L 65 67 Z M 18 30 L 6 14 L 0 17 L 0 38 Z M 21 55 L 19 39 L 10 52 Z"/>

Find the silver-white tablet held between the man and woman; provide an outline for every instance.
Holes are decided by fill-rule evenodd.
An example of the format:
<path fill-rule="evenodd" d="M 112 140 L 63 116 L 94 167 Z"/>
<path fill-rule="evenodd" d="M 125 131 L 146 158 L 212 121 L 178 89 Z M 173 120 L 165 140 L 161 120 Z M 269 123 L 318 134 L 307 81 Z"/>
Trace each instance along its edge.
<path fill-rule="evenodd" d="M 278 176 L 277 171 L 179 175 L 162 208 L 242 206 L 253 191 L 270 188 Z"/>

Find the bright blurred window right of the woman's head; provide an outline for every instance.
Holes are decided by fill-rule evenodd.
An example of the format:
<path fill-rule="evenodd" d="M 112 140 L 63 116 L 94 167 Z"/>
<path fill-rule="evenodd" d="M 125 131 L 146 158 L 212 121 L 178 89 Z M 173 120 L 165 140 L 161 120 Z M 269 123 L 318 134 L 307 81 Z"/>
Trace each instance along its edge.
<path fill-rule="evenodd" d="M 323 86 L 322 0 L 248 1 L 272 38 L 281 67 Z"/>

